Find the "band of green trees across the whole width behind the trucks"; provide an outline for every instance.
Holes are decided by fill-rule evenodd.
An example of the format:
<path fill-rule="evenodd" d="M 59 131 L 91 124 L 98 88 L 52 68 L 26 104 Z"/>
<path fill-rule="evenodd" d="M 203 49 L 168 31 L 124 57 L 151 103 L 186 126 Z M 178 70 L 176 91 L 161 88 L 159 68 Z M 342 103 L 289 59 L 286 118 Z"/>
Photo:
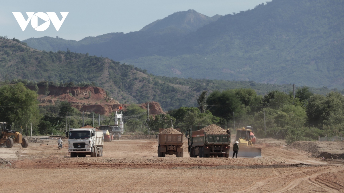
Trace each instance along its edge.
<path fill-rule="evenodd" d="M 293 98 L 291 93 L 281 91 L 261 96 L 253 89 L 228 89 L 209 95 L 204 91 L 196 101 L 198 107 L 180 107 L 149 117 L 146 110 L 131 104 L 123 112 L 125 134 L 156 134 L 159 128 L 171 127 L 171 121 L 182 131 L 192 125 L 217 124 L 234 132 L 235 127 L 249 125 L 258 137 L 286 139 L 287 143 L 344 133 L 344 96 L 335 91 L 324 96 L 303 87 Z M 36 91 L 22 82 L 0 87 L 1 121 L 8 122 L 14 130 L 27 134 L 32 124 L 34 135 L 63 135 L 66 128 L 82 126 L 82 114 L 66 101 L 48 106 L 37 104 Z M 98 116 L 86 114 L 85 125 L 98 126 Z M 100 124 L 114 124 L 113 117 L 114 114 L 102 115 Z"/>

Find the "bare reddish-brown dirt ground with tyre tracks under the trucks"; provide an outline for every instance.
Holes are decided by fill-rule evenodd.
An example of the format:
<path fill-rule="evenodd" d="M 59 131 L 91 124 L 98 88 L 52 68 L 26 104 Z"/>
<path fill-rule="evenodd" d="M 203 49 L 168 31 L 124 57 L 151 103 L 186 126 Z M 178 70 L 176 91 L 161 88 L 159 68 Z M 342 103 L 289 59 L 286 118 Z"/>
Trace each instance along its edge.
<path fill-rule="evenodd" d="M 157 144 L 154 138 L 105 142 L 104 157 L 97 158 L 70 158 L 67 148 L 58 150 L 57 140 L 30 143 L 28 148 L 20 144 L 0 148 L 0 170 L 7 177 L 0 190 L 344 192 L 343 164 L 315 158 L 283 140 L 259 139 L 262 158 L 255 159 L 190 158 L 186 142 L 183 158 L 157 157 Z"/>

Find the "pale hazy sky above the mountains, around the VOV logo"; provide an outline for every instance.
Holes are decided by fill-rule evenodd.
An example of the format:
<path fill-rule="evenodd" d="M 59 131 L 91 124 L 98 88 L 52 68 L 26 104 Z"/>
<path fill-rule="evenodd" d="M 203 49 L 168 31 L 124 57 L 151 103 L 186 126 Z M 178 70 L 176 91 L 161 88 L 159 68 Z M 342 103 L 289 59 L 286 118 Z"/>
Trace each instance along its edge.
<path fill-rule="evenodd" d="M 226 15 L 254 8 L 263 0 L 22 0 L 5 1 L 0 5 L 0 35 L 24 40 L 30 37 L 59 36 L 64 39 L 80 40 L 110 32 L 139 31 L 145 25 L 178 11 L 194 9 L 207 16 Z M 12 12 L 69 12 L 57 32 L 52 23 L 43 32 L 28 24 L 23 32 Z M 39 24 L 43 22 L 39 21 Z"/>

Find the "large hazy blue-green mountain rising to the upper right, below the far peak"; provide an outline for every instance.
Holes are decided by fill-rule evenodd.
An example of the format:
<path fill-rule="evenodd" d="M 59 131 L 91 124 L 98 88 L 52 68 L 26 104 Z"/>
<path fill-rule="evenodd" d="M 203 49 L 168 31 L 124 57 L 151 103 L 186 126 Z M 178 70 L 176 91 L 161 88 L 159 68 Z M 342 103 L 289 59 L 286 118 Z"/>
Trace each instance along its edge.
<path fill-rule="evenodd" d="M 343 89 L 343 13 L 341 0 L 272 0 L 191 33 L 159 27 L 87 37 L 75 46 L 50 37 L 25 42 L 103 55 L 154 75 Z"/>

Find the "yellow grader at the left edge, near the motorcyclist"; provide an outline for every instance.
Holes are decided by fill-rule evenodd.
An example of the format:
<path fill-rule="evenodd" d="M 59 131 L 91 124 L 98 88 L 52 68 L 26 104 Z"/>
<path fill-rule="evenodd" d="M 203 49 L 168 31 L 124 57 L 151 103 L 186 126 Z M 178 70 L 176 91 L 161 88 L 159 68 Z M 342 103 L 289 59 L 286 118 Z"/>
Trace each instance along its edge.
<path fill-rule="evenodd" d="M 6 145 L 6 147 L 11 148 L 13 144 L 21 144 L 22 147 L 28 147 L 29 141 L 25 138 L 22 138 L 22 135 L 19 132 L 8 129 L 6 122 L 0 122 L 1 135 L 0 135 L 0 147 Z M 14 136 L 14 138 L 11 138 Z"/>

